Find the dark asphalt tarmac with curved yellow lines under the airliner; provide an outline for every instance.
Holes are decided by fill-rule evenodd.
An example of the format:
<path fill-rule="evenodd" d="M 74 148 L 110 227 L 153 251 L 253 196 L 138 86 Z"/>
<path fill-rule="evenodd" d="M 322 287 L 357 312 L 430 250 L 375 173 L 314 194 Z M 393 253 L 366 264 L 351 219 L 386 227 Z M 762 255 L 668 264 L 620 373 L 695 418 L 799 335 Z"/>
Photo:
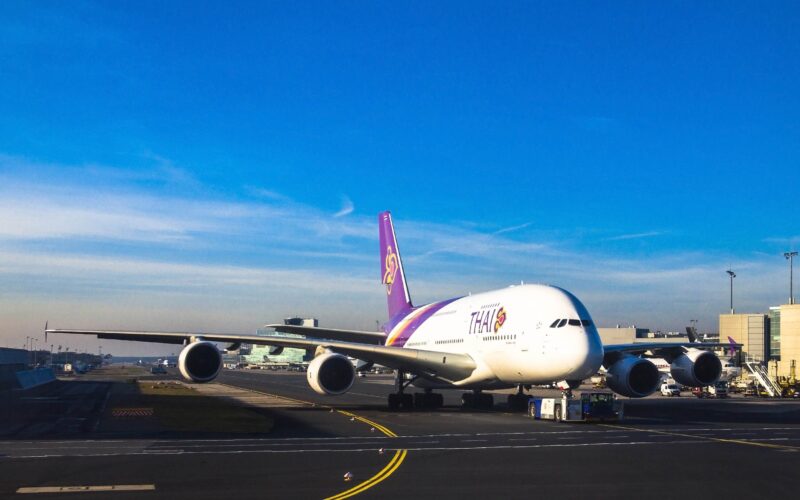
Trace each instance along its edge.
<path fill-rule="evenodd" d="M 132 387 L 82 377 L 7 399 L 13 409 L 0 414 L 0 497 L 740 498 L 800 491 L 792 472 L 800 466 L 800 401 L 652 396 L 626 400 L 620 423 L 558 424 L 507 411 L 500 395 L 493 411 L 461 410 L 456 391 L 443 392 L 440 410 L 389 411 L 387 375 L 359 378 L 346 395 L 325 397 L 303 373 L 226 370 L 193 387 L 271 419 L 271 430 L 188 432 L 164 429 Z M 121 408 L 131 414 L 120 417 Z"/>

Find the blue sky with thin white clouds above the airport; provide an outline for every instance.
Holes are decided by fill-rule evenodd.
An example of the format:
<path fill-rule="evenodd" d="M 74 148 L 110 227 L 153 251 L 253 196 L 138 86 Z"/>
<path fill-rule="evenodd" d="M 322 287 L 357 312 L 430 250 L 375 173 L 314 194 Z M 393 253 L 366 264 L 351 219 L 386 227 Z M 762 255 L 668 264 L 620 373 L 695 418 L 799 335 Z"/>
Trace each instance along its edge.
<path fill-rule="evenodd" d="M 370 328 L 384 209 L 417 302 L 548 282 L 715 330 L 728 266 L 786 302 L 800 7 L 725 7 L 2 2 L 0 345 Z"/>

